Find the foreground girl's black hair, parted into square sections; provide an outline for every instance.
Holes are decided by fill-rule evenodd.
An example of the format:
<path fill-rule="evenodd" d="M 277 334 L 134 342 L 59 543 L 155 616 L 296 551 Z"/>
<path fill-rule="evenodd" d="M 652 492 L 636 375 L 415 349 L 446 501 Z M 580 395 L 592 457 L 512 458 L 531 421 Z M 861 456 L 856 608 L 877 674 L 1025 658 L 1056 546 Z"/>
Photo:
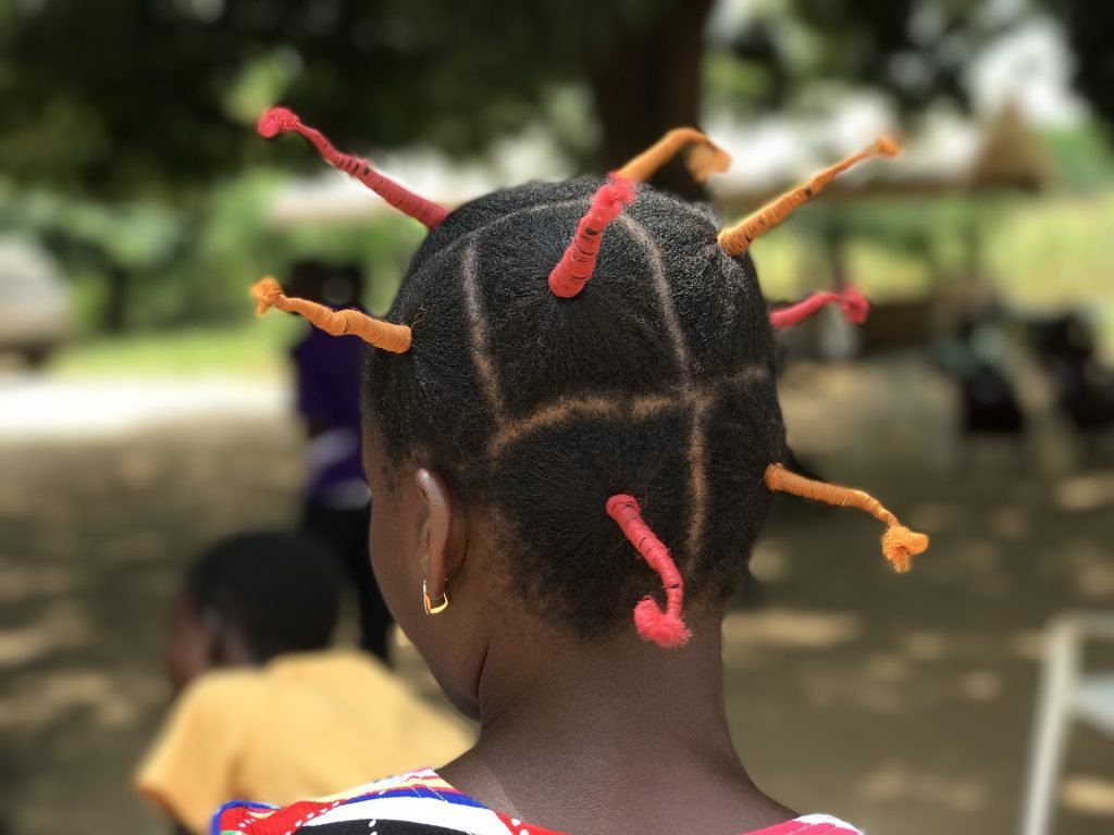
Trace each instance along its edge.
<path fill-rule="evenodd" d="M 714 218 L 642 186 L 592 278 L 547 278 L 599 180 L 481 197 L 433 228 L 388 320 L 410 351 L 370 352 L 368 414 L 390 466 L 441 473 L 500 520 L 516 593 L 584 637 L 628 627 L 658 577 L 605 505 L 631 493 L 690 601 L 722 601 L 784 454 L 773 340 L 749 255 Z"/>

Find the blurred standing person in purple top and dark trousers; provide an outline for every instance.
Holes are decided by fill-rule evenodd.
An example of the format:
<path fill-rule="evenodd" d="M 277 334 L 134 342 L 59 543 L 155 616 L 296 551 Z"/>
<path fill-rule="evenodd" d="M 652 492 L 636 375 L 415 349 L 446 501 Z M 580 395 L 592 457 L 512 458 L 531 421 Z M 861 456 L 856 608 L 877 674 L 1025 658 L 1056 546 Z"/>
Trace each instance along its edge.
<path fill-rule="evenodd" d="M 336 310 L 363 310 L 363 275 L 355 265 L 302 261 L 291 292 Z M 309 436 L 302 528 L 341 560 L 360 605 L 360 646 L 388 661 L 392 619 L 371 571 L 368 530 L 371 494 L 360 451 L 360 391 L 367 345 L 310 326 L 291 348 L 296 409 Z"/>

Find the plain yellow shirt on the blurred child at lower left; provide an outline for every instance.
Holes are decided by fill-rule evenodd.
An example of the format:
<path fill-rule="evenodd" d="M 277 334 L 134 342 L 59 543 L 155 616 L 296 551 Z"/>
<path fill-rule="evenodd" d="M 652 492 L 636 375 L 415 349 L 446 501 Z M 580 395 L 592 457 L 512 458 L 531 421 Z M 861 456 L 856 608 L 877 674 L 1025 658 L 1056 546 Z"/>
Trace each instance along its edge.
<path fill-rule="evenodd" d="M 442 765 L 471 741 L 378 661 L 305 652 L 192 682 L 147 752 L 136 786 L 204 834 L 227 800 L 284 806 Z"/>

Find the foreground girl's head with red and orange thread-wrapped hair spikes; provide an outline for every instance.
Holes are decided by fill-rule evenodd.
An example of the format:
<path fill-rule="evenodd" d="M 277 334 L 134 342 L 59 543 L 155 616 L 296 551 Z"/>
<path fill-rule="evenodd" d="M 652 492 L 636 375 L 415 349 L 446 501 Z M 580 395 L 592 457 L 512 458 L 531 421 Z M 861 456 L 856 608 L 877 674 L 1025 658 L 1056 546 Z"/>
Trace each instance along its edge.
<path fill-rule="evenodd" d="M 382 193 L 365 163 L 283 118 Z M 702 143 L 697 165 L 711 149 L 722 167 L 685 137 Z M 622 176 L 646 173 L 639 158 L 606 183 L 504 189 L 447 216 L 390 191 L 420 202 L 411 214 L 431 228 L 395 324 L 314 318 L 387 348 L 371 352 L 364 392 L 372 560 L 468 713 L 492 647 L 637 642 L 632 611 L 663 646 L 687 639 L 682 618 L 714 628 L 769 508 L 785 431 L 745 248 L 755 223 L 781 217 L 721 233 Z M 273 283 L 257 297 L 316 315 Z M 428 616 L 423 591 L 450 606 Z"/>

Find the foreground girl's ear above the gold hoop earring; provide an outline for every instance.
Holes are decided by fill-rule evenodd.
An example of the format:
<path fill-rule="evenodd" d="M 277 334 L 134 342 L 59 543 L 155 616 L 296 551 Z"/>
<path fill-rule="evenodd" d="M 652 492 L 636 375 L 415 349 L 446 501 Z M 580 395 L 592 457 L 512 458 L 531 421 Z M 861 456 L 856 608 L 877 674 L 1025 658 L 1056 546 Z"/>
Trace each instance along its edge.
<path fill-rule="evenodd" d="M 431 600 L 441 600 L 458 577 L 468 550 L 468 525 L 463 505 L 456 492 L 436 472 L 419 468 L 414 483 L 424 502 L 426 519 L 421 530 L 421 568 L 426 591 Z"/>

